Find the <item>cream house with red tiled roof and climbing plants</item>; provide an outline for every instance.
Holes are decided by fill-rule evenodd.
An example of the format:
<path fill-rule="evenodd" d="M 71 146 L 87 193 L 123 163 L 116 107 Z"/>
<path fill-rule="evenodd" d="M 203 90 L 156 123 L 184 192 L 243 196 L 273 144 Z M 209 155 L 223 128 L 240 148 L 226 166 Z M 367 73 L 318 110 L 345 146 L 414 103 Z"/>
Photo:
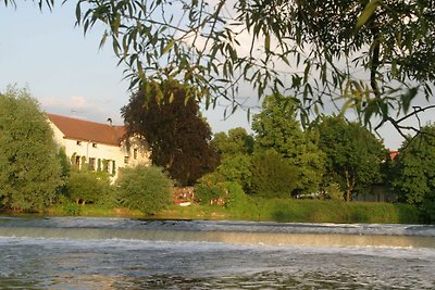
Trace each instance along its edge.
<path fill-rule="evenodd" d="M 65 149 L 66 156 L 78 168 L 88 164 L 92 171 L 111 174 L 114 180 L 121 167 L 150 164 L 145 140 L 130 138 L 127 146 L 123 138 L 125 127 L 112 125 L 110 118 L 107 124 L 54 114 L 47 114 L 47 118 L 54 141 Z"/>

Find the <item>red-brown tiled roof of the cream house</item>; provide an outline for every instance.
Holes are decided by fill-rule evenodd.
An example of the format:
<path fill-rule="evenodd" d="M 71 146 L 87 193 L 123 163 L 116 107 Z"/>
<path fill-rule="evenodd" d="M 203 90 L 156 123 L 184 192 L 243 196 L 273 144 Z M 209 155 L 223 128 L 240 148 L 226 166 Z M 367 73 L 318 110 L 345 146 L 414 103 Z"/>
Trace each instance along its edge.
<path fill-rule="evenodd" d="M 125 133 L 124 126 L 111 126 L 54 114 L 47 114 L 47 116 L 66 139 L 120 146 Z"/>

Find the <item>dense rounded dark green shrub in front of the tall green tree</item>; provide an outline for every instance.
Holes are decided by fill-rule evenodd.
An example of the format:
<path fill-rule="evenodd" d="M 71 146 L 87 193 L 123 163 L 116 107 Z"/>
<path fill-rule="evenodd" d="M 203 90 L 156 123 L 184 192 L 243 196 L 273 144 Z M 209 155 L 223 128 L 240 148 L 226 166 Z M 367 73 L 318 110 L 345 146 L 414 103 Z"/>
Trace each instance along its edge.
<path fill-rule="evenodd" d="M 251 192 L 264 198 L 290 198 L 298 184 L 299 172 L 273 150 L 254 153 Z"/>

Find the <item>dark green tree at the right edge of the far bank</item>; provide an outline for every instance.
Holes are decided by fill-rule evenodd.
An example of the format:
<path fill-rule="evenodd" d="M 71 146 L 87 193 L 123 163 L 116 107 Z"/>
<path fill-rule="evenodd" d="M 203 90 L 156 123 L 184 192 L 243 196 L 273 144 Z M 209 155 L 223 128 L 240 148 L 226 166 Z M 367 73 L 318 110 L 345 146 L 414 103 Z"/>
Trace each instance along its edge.
<path fill-rule="evenodd" d="M 422 134 L 399 150 L 393 186 L 399 201 L 420 206 L 426 222 L 434 222 L 435 203 L 435 125 L 422 128 Z"/>

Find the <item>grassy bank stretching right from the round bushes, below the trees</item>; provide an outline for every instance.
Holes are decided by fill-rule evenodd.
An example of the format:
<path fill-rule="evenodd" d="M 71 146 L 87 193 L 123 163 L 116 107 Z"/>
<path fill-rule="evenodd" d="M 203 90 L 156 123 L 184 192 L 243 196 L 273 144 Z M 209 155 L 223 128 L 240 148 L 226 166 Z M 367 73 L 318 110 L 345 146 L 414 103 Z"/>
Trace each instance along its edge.
<path fill-rule="evenodd" d="M 194 204 L 171 206 L 160 218 L 244 219 L 295 223 L 418 224 L 419 213 L 407 204 L 321 200 L 251 199 L 237 209 Z"/>

